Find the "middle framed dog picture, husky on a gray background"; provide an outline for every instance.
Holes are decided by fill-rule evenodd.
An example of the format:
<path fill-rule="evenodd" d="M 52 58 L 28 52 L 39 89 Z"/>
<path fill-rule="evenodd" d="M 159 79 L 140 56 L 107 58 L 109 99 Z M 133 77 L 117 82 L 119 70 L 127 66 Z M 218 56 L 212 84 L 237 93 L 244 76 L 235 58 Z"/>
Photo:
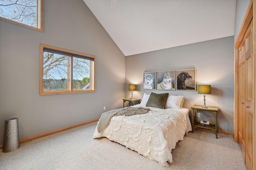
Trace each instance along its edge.
<path fill-rule="evenodd" d="M 157 90 L 175 90 L 176 89 L 176 71 L 157 72 Z"/>

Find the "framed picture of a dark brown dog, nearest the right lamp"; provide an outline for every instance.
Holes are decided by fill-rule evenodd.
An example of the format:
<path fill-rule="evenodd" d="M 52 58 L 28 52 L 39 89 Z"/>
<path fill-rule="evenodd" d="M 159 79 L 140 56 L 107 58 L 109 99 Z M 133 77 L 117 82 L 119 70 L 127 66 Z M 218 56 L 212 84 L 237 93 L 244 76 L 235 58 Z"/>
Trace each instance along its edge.
<path fill-rule="evenodd" d="M 196 69 L 176 70 L 176 89 L 196 91 Z"/>

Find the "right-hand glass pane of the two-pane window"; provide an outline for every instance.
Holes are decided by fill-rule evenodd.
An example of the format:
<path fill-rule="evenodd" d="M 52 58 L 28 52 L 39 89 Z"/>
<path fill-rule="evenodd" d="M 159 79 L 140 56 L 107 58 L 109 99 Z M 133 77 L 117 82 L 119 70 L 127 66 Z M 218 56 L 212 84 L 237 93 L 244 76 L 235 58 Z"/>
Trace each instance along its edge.
<path fill-rule="evenodd" d="M 73 57 L 73 89 L 91 89 L 90 60 Z"/>

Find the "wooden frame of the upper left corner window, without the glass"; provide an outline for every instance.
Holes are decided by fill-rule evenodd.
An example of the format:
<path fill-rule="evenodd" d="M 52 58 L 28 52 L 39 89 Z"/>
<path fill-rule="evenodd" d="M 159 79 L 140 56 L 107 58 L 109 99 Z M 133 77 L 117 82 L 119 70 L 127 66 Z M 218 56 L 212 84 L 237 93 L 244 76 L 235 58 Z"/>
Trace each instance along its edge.
<path fill-rule="evenodd" d="M 7 18 L 0 17 L 0 20 L 6 21 L 9 23 L 13 23 L 16 25 L 20 25 L 22 27 L 34 29 L 36 31 L 44 32 L 44 0 L 37 0 L 37 27 L 32 27 L 30 25 L 26 25 L 24 23 L 20 23 L 17 21 L 9 20 Z"/>

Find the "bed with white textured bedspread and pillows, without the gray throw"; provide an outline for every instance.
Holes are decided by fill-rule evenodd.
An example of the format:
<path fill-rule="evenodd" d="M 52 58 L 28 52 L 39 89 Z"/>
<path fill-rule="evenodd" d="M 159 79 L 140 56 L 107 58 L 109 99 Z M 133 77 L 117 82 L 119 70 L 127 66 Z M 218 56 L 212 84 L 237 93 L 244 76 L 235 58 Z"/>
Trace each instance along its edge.
<path fill-rule="evenodd" d="M 93 138 L 106 137 L 163 166 L 169 166 L 168 162 L 172 163 L 172 149 L 192 128 L 188 109 L 182 108 L 184 97 L 166 94 L 166 99 L 163 99 L 159 97 L 161 95 L 145 93 L 140 104 L 130 107 L 147 108 L 147 113 L 113 116 L 100 132 L 99 120 Z"/>

